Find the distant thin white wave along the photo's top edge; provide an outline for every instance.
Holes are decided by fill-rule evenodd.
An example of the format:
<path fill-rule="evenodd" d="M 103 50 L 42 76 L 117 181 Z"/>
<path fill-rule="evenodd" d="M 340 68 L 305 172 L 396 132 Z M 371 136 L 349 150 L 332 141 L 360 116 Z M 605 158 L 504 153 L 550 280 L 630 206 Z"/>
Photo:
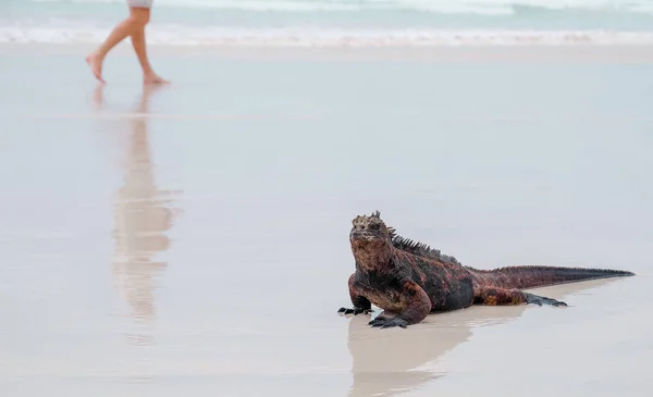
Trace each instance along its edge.
<path fill-rule="evenodd" d="M 29 0 L 34 3 L 114 3 L 125 0 Z M 653 15 L 651 0 L 155 0 L 159 8 L 250 12 L 416 11 L 439 14 L 514 15 L 538 11 L 593 11 Z"/>

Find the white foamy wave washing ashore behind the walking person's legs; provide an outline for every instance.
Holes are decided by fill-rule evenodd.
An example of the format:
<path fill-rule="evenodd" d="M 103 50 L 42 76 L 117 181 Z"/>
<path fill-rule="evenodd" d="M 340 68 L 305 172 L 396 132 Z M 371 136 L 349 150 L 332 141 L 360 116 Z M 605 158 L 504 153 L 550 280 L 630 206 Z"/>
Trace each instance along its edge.
<path fill-rule="evenodd" d="M 0 26 L 0 42 L 98 44 L 110 27 L 95 25 Z M 347 28 L 225 28 L 163 25 L 148 29 L 148 42 L 169 46 L 438 47 L 653 45 L 653 32 L 444 30 Z"/>

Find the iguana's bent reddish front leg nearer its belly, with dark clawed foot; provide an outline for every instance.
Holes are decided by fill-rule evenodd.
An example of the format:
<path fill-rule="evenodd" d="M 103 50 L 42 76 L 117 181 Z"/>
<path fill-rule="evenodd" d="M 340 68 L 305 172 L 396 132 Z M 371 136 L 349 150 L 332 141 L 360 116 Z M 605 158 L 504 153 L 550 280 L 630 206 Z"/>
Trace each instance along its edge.
<path fill-rule="evenodd" d="M 407 280 L 403 283 L 401 290 L 392 293 L 398 295 L 402 310 L 394 318 L 387 318 L 383 314 L 378 315 L 369 322 L 371 326 L 380 326 L 382 328 L 401 326 L 405 328 L 410 324 L 419 323 L 431 312 L 431 299 L 429 299 L 427 293 L 417 283 Z M 393 311 L 395 310 L 393 309 Z"/>

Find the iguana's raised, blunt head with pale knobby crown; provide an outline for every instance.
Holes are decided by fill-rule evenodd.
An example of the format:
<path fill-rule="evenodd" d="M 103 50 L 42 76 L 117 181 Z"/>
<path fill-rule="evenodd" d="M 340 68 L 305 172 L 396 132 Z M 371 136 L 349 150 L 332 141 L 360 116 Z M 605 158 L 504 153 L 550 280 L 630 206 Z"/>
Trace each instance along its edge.
<path fill-rule="evenodd" d="M 392 244 L 379 211 L 352 220 L 349 244 L 356 261 L 368 270 L 383 266 L 390 261 Z"/>

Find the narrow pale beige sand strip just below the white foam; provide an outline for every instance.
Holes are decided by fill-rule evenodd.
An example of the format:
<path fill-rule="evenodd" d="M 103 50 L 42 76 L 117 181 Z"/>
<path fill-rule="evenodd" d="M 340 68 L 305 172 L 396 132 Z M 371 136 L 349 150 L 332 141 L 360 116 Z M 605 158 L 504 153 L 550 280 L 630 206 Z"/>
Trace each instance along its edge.
<path fill-rule="evenodd" d="M 85 55 L 91 44 L 0 44 L 0 55 Z M 148 45 L 150 57 L 218 57 L 225 60 L 410 60 L 653 63 L 648 45 L 465 46 L 465 47 L 300 47 Z M 111 57 L 134 57 L 132 44 L 118 45 Z"/>

